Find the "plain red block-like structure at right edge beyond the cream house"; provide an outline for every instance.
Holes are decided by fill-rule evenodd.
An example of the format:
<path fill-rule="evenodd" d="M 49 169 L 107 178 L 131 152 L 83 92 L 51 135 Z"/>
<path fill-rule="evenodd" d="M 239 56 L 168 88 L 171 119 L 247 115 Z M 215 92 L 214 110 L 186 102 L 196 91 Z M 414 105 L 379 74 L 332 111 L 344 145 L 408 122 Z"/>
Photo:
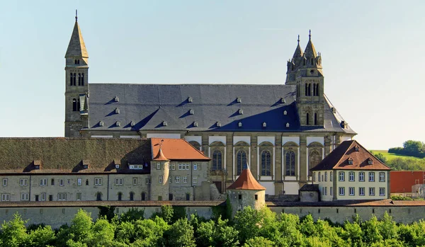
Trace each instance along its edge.
<path fill-rule="evenodd" d="M 391 171 L 390 193 L 412 193 L 412 186 L 425 182 L 425 171 Z"/>

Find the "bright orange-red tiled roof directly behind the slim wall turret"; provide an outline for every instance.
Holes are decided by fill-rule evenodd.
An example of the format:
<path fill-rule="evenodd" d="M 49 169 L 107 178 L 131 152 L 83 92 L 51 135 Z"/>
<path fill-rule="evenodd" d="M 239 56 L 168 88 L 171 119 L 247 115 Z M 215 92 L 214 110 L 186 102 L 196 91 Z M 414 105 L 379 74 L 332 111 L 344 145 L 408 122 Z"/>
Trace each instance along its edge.
<path fill-rule="evenodd" d="M 185 139 L 151 138 L 152 156 L 158 154 L 161 143 L 163 156 L 171 161 L 210 161 L 210 158 L 186 142 Z"/>

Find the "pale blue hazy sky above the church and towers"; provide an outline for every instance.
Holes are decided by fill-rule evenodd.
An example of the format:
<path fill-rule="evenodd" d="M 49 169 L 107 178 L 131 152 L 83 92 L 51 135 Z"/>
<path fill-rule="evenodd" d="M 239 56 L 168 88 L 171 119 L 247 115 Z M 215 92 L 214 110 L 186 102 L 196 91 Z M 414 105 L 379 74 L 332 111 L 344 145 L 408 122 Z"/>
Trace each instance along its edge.
<path fill-rule="evenodd" d="M 311 29 L 354 139 L 425 142 L 425 1 L 0 2 L 0 137 L 64 136 L 77 8 L 91 83 L 284 84 Z"/>

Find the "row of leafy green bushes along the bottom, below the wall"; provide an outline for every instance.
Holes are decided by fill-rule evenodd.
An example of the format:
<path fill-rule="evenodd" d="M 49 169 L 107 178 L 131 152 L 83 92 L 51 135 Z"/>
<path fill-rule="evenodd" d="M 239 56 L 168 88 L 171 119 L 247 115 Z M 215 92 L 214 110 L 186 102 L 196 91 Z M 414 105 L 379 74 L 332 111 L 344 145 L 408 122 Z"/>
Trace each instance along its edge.
<path fill-rule="evenodd" d="M 170 206 L 171 207 L 171 206 Z M 176 219 L 170 207 L 164 215 Z M 172 209 L 172 207 L 171 207 Z M 181 209 L 178 209 L 179 211 Z M 173 213 L 175 210 L 172 211 Z M 50 226 L 26 227 L 19 214 L 1 224 L 0 246 L 424 246 L 425 221 L 396 224 L 389 214 L 382 219 L 373 216 L 362 221 L 358 215 L 344 224 L 328 220 L 314 221 L 309 214 L 276 214 L 267 207 L 250 207 L 238 211 L 234 219 L 203 219 L 193 214 L 166 222 L 154 215 L 142 219 L 142 210 L 132 209 L 111 222 L 100 217 L 95 222 L 91 214 L 80 209 L 72 222 L 54 231 Z M 134 219 L 131 219 L 134 216 Z"/>

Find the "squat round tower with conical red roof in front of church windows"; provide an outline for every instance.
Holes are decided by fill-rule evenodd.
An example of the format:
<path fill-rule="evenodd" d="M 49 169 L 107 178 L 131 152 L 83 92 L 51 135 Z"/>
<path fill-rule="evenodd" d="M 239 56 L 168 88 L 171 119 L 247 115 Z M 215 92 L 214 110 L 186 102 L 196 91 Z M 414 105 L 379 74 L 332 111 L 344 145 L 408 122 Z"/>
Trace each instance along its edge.
<path fill-rule="evenodd" d="M 255 180 L 249 168 L 245 168 L 239 178 L 227 188 L 227 196 L 232 204 L 232 217 L 244 207 L 261 209 L 266 205 L 266 188 Z"/>

